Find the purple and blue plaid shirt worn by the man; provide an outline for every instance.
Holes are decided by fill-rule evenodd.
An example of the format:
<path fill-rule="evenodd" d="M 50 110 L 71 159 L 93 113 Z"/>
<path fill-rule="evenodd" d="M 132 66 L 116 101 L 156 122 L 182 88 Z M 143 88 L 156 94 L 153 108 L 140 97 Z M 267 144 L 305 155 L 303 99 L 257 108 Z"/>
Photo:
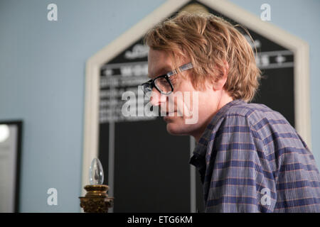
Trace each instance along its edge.
<path fill-rule="evenodd" d="M 320 175 L 304 140 L 263 104 L 223 106 L 196 145 L 205 212 L 320 212 Z"/>

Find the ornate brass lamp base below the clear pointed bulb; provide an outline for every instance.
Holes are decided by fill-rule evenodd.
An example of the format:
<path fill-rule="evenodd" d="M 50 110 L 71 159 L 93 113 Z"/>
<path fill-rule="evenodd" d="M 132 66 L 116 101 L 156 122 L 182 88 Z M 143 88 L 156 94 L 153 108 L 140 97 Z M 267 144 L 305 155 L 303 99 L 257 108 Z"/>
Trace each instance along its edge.
<path fill-rule="evenodd" d="M 105 184 L 86 185 L 87 194 L 85 197 L 79 197 L 80 207 L 85 213 L 107 213 L 113 206 L 113 199 L 107 194 L 109 187 Z"/>

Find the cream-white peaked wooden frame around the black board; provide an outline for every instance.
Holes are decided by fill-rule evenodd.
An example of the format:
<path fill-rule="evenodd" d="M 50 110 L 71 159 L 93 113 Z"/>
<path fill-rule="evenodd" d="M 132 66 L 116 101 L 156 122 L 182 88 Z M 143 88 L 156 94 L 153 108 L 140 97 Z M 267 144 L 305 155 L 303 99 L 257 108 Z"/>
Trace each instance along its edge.
<path fill-rule="evenodd" d="M 100 67 L 112 60 L 120 52 L 139 40 L 142 35 L 159 21 L 171 16 L 190 0 L 168 0 L 158 9 L 146 16 L 142 21 L 112 41 L 105 48 L 90 57 L 85 71 L 85 122 L 82 156 L 82 187 L 89 184 L 89 168 L 91 160 L 98 156 L 99 140 L 99 96 Z M 283 31 L 271 23 L 241 9 L 226 0 L 198 0 L 215 11 L 241 23 L 269 40 L 294 52 L 294 123 L 298 133 L 302 135 L 311 149 L 311 122 L 309 98 L 309 45 L 294 35 Z M 110 123 L 114 127 L 114 123 Z M 112 145 L 111 145 L 112 146 Z M 112 147 L 111 147 L 112 148 Z M 112 148 L 113 149 L 113 148 Z M 114 157 L 111 157 L 111 159 Z M 195 175 L 191 169 L 191 194 L 195 194 Z M 113 181 L 112 181 L 113 182 Z M 110 185 L 112 187 L 112 185 Z M 82 194 L 85 192 L 82 189 Z M 191 212 L 195 211 L 195 195 L 191 195 Z"/>

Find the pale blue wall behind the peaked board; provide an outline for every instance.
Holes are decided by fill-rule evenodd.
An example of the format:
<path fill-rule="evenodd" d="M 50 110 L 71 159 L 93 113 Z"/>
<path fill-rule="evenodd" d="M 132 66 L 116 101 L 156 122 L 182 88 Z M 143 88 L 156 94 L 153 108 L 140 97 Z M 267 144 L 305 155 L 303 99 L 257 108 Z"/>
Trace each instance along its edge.
<path fill-rule="evenodd" d="M 312 146 L 320 163 L 320 1 L 244 1 L 235 4 L 272 21 L 310 45 Z M 58 21 L 47 21 L 47 5 Z M 164 0 L 0 0 L 0 121 L 24 123 L 21 211 L 78 212 L 82 165 L 85 61 Z M 48 206 L 48 188 L 58 206 Z"/>

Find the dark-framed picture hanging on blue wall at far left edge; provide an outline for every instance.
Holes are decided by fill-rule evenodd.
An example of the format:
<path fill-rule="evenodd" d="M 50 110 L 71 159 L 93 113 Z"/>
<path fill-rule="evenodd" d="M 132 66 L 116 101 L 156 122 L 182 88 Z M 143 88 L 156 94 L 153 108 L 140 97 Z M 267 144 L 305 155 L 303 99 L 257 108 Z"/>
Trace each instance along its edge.
<path fill-rule="evenodd" d="M 22 121 L 0 121 L 0 213 L 18 212 Z"/>

